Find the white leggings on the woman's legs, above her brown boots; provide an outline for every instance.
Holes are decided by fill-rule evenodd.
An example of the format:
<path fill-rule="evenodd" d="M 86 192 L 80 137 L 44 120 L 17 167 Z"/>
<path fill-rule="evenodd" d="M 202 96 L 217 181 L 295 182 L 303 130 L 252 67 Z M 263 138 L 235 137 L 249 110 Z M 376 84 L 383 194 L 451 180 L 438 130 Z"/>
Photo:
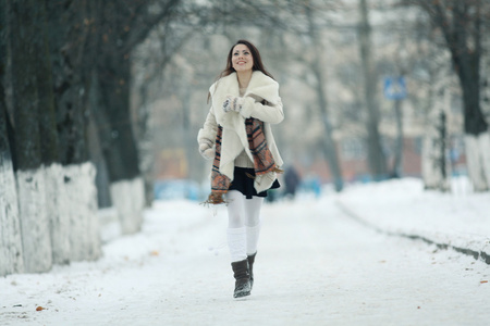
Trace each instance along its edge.
<path fill-rule="evenodd" d="M 230 190 L 228 201 L 228 247 L 231 261 L 240 262 L 257 252 L 260 233 L 260 208 L 264 198 L 246 199 L 242 192 Z"/>

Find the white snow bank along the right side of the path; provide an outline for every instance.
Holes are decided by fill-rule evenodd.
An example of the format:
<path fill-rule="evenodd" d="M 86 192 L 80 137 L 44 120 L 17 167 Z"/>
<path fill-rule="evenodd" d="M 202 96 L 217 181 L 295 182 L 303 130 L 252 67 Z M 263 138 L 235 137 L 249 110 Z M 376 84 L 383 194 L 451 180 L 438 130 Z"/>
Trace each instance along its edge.
<path fill-rule="evenodd" d="M 453 189 L 424 190 L 422 180 L 404 178 L 354 185 L 336 200 L 385 233 L 490 254 L 490 193 L 469 192 L 464 179 L 453 180 Z"/>

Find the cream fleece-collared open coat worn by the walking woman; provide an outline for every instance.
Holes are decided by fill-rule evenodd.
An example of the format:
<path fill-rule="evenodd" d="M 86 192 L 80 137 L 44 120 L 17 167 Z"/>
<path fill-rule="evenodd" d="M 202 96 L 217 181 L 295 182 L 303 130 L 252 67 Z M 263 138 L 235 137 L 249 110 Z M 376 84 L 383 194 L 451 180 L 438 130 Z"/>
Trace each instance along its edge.
<path fill-rule="evenodd" d="M 228 96 L 240 97 L 236 73 L 212 84 L 209 88 L 209 93 L 211 95 L 211 109 L 206 117 L 204 127 L 197 135 L 197 141 L 201 143 L 210 140 L 215 143 L 218 125 L 223 127 L 220 173 L 233 180 L 234 160 L 243 150 L 254 162 L 245 130 L 245 118 L 248 117 L 255 117 L 264 122 L 267 145 L 274 158 L 275 165 L 280 167 L 283 161 L 270 128 L 270 124 L 278 124 L 284 118 L 282 101 L 279 97 L 279 84 L 261 72 L 255 71 L 243 97 L 240 113 L 234 111 L 225 113 L 222 109 Z M 266 100 L 267 103 L 262 104 L 262 100 Z M 215 151 L 212 151 L 212 158 L 209 156 L 209 159 L 213 159 L 213 153 Z M 275 178 L 277 174 L 274 172 L 258 176 L 255 178 L 254 187 L 257 192 L 261 192 L 269 189 Z"/>

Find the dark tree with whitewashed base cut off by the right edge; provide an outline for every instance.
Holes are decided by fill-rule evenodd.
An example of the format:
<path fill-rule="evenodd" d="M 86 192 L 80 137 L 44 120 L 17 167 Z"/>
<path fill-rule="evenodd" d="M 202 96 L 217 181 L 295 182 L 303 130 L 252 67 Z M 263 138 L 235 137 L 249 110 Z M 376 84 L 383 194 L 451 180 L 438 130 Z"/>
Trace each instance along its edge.
<path fill-rule="evenodd" d="M 483 24 L 490 17 L 490 4 L 482 0 L 421 1 L 419 5 L 438 28 L 451 52 L 451 61 L 463 90 L 464 130 L 469 177 L 476 191 L 490 186 L 490 135 L 481 111 L 481 57 L 485 53 Z"/>

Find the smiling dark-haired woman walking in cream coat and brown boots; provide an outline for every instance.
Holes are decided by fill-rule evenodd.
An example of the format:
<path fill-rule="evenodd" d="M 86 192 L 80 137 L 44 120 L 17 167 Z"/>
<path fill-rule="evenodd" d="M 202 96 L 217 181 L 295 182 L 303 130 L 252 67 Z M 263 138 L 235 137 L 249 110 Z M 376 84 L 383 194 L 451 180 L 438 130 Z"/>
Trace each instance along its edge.
<path fill-rule="evenodd" d="M 209 88 L 211 109 L 197 135 L 199 152 L 213 159 L 208 203 L 226 203 L 228 244 L 235 277 L 233 297 L 250 294 L 268 189 L 279 188 L 282 159 L 270 124 L 284 118 L 279 84 L 265 70 L 257 48 L 238 40 L 226 68 Z"/>

